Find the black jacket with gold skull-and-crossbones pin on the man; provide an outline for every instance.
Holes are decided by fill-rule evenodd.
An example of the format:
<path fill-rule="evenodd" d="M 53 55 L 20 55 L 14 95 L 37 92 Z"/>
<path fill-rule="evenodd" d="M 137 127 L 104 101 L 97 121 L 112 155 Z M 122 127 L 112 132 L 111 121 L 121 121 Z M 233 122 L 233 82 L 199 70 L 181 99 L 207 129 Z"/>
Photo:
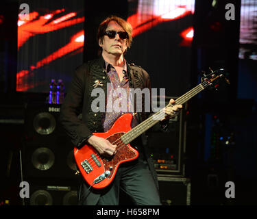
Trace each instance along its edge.
<path fill-rule="evenodd" d="M 149 75 L 140 66 L 127 64 L 127 75 L 130 88 L 151 89 Z M 103 132 L 102 118 L 105 113 L 91 110 L 91 103 L 96 98 L 91 96 L 91 92 L 97 80 L 101 82 L 97 88 L 102 88 L 106 94 L 110 79 L 104 69 L 102 57 L 82 64 L 75 70 L 71 87 L 60 110 L 60 123 L 77 147 L 82 146 L 93 132 Z M 144 105 L 145 101 L 142 100 L 142 103 Z M 79 118 L 79 114 L 82 114 L 82 118 Z M 147 116 L 143 110 L 138 115 L 138 122 L 145 120 Z"/>

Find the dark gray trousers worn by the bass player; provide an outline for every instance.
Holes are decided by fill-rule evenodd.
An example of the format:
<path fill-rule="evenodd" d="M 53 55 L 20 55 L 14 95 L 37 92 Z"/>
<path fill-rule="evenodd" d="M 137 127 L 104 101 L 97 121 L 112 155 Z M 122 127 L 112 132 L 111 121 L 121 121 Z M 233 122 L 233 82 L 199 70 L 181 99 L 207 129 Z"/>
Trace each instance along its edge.
<path fill-rule="evenodd" d="M 79 205 L 119 205 L 121 190 L 130 196 L 134 205 L 161 205 L 156 183 L 142 156 L 121 164 L 108 188 L 88 190 L 88 184 L 83 181 L 79 188 Z"/>

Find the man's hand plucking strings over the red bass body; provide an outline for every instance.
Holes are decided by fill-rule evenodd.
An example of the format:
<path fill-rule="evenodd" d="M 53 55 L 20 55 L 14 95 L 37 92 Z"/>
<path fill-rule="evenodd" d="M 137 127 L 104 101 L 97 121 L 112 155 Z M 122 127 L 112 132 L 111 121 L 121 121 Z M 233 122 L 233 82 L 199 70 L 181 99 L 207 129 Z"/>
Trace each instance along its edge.
<path fill-rule="evenodd" d="M 111 144 L 105 138 L 91 136 L 88 138 L 88 143 L 92 145 L 100 155 L 112 156 L 116 152 L 117 145 Z"/>

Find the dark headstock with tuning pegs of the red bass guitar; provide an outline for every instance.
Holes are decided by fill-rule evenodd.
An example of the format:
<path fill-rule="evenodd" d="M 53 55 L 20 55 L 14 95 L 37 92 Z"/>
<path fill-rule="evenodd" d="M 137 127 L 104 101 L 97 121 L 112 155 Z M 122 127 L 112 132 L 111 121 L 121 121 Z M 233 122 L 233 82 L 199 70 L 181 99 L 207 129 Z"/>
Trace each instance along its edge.
<path fill-rule="evenodd" d="M 201 77 L 201 85 L 204 88 L 210 88 L 218 90 L 219 84 L 221 83 L 221 79 L 225 79 L 225 82 L 230 84 L 230 81 L 225 78 L 225 70 L 223 68 L 220 68 L 218 70 L 213 71 L 211 68 L 210 73 L 206 75 L 204 73 L 204 77 Z"/>

